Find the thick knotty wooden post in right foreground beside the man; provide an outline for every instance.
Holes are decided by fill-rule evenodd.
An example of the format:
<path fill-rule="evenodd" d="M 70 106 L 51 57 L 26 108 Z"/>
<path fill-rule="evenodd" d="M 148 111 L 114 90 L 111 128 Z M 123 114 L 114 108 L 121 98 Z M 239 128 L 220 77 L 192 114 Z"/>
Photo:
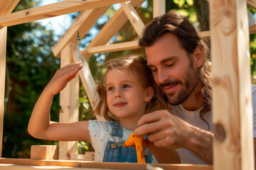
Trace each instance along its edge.
<path fill-rule="evenodd" d="M 254 168 L 250 52 L 245 1 L 210 3 L 214 169 Z"/>

